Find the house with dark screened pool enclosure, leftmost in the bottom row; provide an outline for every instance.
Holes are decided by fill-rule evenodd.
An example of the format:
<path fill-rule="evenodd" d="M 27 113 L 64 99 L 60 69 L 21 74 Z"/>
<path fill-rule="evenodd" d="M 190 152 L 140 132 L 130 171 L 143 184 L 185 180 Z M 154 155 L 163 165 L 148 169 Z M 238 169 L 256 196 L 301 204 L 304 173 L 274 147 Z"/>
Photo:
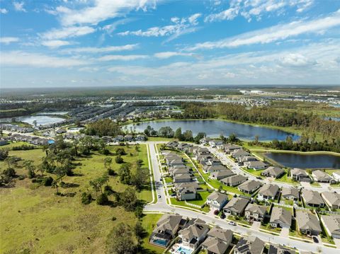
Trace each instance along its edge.
<path fill-rule="evenodd" d="M 166 248 L 176 233 L 186 224 L 186 220 L 177 214 L 163 214 L 157 221 L 156 227 L 151 233 L 149 243 Z"/>

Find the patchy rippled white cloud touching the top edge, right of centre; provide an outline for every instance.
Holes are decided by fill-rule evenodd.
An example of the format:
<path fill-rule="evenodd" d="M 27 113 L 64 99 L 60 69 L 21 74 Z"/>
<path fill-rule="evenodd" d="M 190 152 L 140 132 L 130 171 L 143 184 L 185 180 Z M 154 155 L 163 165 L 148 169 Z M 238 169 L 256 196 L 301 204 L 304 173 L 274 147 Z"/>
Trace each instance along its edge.
<path fill-rule="evenodd" d="M 205 18 L 205 22 L 233 20 L 241 15 L 248 21 L 251 18 L 261 19 L 261 16 L 267 13 L 276 13 L 280 15 L 288 8 L 295 8 L 298 13 L 305 11 L 312 6 L 314 0 L 232 0 L 229 8 L 219 13 L 212 13 Z"/>

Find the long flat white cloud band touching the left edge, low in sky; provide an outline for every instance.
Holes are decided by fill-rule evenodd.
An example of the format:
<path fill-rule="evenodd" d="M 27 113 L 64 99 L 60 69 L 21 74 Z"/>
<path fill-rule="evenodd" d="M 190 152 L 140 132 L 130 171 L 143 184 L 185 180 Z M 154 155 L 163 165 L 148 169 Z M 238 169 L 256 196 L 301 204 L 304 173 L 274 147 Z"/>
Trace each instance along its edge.
<path fill-rule="evenodd" d="M 2 66 L 62 68 L 89 64 L 89 61 L 85 62 L 69 57 L 51 57 L 45 54 L 21 51 L 1 52 L 0 56 L 0 64 Z"/>

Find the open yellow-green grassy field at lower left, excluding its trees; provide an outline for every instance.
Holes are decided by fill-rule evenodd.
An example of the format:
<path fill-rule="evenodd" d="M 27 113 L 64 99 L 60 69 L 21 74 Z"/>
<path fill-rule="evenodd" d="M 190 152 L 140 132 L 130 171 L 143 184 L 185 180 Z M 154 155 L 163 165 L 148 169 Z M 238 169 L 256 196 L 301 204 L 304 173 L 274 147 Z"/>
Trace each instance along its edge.
<path fill-rule="evenodd" d="M 108 149 L 115 151 L 118 147 Z M 125 162 L 142 159 L 142 167 L 148 167 L 145 145 L 140 145 L 138 152 L 135 146 L 123 148 L 127 152 L 123 156 Z M 45 156 L 42 149 L 10 151 L 9 154 L 32 159 L 36 164 Z M 115 156 L 112 157 L 114 161 Z M 36 187 L 28 178 L 17 179 L 14 187 L 0 188 L 0 253 L 23 253 L 24 250 L 26 253 L 105 253 L 109 231 L 120 222 L 134 225 L 137 219 L 133 212 L 126 212 L 122 207 L 100 206 L 96 202 L 81 204 L 81 192 L 92 190 L 89 180 L 106 171 L 103 158 L 105 156 L 98 153 L 77 158 L 74 161 L 76 175 L 64 177 L 64 182 L 72 183 L 72 187 L 60 187 L 60 192 L 67 195 L 64 197 L 55 195 L 52 187 Z M 16 172 L 26 175 L 21 164 Z M 113 162 L 116 172 L 119 167 Z M 6 164 L 1 162 L 0 168 L 6 168 Z M 117 192 L 128 187 L 120 183 L 118 176 L 111 176 L 109 185 Z M 95 197 L 94 192 L 92 195 Z M 152 200 L 149 189 L 140 192 L 138 197 L 145 202 Z M 116 220 L 113 221 L 113 217 Z"/>

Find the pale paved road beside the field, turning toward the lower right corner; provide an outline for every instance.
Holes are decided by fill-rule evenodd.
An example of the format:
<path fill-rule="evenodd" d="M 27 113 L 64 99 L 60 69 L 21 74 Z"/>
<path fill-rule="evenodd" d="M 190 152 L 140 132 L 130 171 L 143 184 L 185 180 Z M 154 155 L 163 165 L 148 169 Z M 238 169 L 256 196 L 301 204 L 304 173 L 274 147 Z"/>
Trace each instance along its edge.
<path fill-rule="evenodd" d="M 152 161 L 152 169 L 154 171 L 154 178 L 155 180 L 159 181 L 161 176 L 159 163 L 157 161 L 157 152 L 154 149 L 154 144 L 157 142 L 147 142 L 150 148 L 150 156 Z M 228 224 L 228 221 L 214 217 L 210 214 L 201 214 L 200 212 L 193 212 L 188 209 L 183 209 L 180 207 L 173 207 L 169 204 L 166 204 L 166 195 L 164 192 L 164 187 L 162 184 L 157 185 L 156 187 L 157 196 L 160 195 L 161 198 L 157 200 L 156 204 L 148 204 L 145 206 L 146 212 L 171 212 L 176 214 L 181 214 L 184 217 L 191 217 L 191 218 L 200 218 L 203 219 L 208 224 L 215 224 L 217 226 L 221 226 L 224 229 L 230 229 L 236 233 L 242 234 L 244 236 L 257 236 L 261 238 L 263 241 L 268 243 L 280 243 L 285 244 L 286 246 L 290 246 L 296 248 L 297 250 L 307 250 L 320 253 L 327 253 L 327 254 L 339 254 L 339 249 L 336 248 L 328 248 L 325 246 L 318 246 L 313 243 L 304 243 L 302 241 L 295 241 L 290 238 L 283 238 L 280 236 L 273 236 L 268 233 L 263 233 L 258 230 L 245 228 L 243 226 L 231 226 Z"/>

